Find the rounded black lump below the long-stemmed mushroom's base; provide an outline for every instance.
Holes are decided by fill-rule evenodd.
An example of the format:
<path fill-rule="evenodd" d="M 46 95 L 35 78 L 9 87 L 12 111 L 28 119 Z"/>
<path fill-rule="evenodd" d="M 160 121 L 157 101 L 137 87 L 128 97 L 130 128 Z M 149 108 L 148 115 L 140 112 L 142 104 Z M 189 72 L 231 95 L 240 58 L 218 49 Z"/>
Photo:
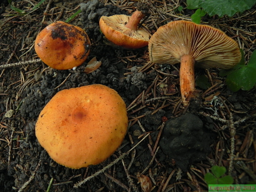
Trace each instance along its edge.
<path fill-rule="evenodd" d="M 165 123 L 160 146 L 183 171 L 187 171 L 192 163 L 204 160 L 210 151 L 210 133 L 203 127 L 201 119 L 191 113 Z"/>

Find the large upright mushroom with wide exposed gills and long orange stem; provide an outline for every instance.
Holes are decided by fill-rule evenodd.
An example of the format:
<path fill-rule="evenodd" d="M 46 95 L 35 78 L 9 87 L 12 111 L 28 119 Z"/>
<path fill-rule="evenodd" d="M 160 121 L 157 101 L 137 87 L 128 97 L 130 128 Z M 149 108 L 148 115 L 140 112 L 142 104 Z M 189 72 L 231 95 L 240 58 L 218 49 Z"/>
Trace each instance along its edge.
<path fill-rule="evenodd" d="M 229 69 L 241 60 L 238 44 L 221 30 L 189 21 L 159 27 L 149 40 L 149 57 L 159 64 L 180 62 L 180 91 L 184 106 L 195 93 L 194 66 Z"/>

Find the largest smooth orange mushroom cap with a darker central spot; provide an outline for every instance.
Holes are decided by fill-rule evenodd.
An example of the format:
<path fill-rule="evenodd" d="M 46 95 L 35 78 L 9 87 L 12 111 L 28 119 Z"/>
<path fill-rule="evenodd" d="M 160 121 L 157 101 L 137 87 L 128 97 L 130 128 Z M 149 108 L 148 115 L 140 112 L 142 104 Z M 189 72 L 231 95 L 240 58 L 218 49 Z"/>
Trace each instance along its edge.
<path fill-rule="evenodd" d="M 78 169 L 99 164 L 113 154 L 127 125 L 121 96 L 94 84 L 57 92 L 41 111 L 35 133 L 54 161 Z"/>

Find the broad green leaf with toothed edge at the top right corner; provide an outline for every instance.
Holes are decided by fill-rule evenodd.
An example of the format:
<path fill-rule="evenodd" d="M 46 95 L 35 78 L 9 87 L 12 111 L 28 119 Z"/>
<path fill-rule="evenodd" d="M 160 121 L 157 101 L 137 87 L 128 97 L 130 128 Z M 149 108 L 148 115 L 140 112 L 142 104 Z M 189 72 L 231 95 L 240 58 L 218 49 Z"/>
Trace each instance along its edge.
<path fill-rule="evenodd" d="M 235 13 L 250 9 L 256 0 L 199 0 L 198 6 L 202 7 L 209 16 L 217 14 L 219 17 L 233 16 Z"/>

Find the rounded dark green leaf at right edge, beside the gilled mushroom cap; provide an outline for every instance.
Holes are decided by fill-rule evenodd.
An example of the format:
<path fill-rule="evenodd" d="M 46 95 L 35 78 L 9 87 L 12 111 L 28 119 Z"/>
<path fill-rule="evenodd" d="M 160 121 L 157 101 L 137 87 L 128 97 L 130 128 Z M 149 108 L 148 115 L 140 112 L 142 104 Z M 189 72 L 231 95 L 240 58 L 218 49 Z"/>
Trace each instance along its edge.
<path fill-rule="evenodd" d="M 226 78 L 227 87 L 233 92 L 250 90 L 256 83 L 256 69 L 248 65 L 232 71 Z"/>

